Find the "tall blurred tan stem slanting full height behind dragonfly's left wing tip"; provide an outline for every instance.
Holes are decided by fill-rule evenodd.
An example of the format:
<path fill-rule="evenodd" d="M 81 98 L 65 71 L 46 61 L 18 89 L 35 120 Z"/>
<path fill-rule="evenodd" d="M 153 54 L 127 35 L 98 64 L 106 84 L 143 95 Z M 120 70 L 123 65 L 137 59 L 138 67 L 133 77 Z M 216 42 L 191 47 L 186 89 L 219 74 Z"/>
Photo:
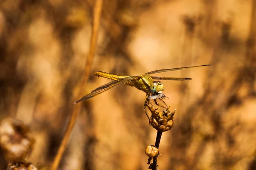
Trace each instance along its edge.
<path fill-rule="evenodd" d="M 96 44 L 97 44 L 97 40 L 98 40 L 101 11 L 102 11 L 102 0 L 96 0 L 94 13 L 93 13 L 93 28 L 92 28 L 92 35 L 90 38 L 90 50 L 89 50 L 89 53 L 87 56 L 86 65 L 84 67 L 84 75 L 83 75 L 83 80 L 80 85 L 80 93 L 79 94 L 81 94 L 82 89 L 86 85 L 86 82 L 89 78 L 91 62 L 93 60 L 93 54 L 95 52 L 95 48 L 96 48 Z M 72 133 L 73 127 L 76 123 L 76 118 L 77 118 L 80 110 L 81 110 L 81 102 L 74 106 L 72 116 L 70 118 L 70 122 L 65 131 L 64 138 L 63 138 L 61 145 L 58 149 L 58 153 L 56 154 L 55 159 L 52 163 L 52 167 L 51 167 L 52 170 L 57 170 L 57 168 L 58 168 L 58 165 L 61 161 L 63 153 L 66 150 L 67 144 L 70 139 L 70 135 Z"/>

